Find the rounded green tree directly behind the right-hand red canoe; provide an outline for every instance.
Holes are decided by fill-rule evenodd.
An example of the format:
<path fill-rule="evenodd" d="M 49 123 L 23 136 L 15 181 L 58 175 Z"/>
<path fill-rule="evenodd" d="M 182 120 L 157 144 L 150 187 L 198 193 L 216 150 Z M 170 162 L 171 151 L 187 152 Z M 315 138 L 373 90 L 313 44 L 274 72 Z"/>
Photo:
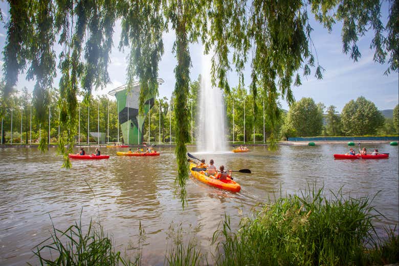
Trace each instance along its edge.
<path fill-rule="evenodd" d="M 363 96 L 349 101 L 342 109 L 342 131 L 348 136 L 374 135 L 384 125 L 384 116 Z"/>

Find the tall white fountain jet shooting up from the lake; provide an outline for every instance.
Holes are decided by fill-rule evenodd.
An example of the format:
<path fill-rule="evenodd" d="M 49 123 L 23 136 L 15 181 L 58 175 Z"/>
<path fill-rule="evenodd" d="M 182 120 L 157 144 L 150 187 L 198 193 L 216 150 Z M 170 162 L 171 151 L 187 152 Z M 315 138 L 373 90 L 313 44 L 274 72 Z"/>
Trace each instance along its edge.
<path fill-rule="evenodd" d="M 227 151 L 226 113 L 223 92 L 211 83 L 211 55 L 202 56 L 200 101 L 198 105 L 198 152 Z"/>

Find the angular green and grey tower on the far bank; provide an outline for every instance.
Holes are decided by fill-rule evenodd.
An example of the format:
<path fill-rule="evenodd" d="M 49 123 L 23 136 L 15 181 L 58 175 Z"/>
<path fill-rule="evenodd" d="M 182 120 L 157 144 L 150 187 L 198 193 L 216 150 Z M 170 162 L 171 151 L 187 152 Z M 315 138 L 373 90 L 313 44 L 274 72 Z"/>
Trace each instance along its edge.
<path fill-rule="evenodd" d="M 164 83 L 163 79 L 157 79 L 158 84 Z M 149 95 L 145 99 L 144 114 L 139 115 L 139 96 L 140 83 L 134 82 L 133 88 L 127 91 L 127 85 L 122 85 L 108 92 L 117 100 L 118 121 L 122 131 L 125 144 L 141 144 L 143 143 L 144 123 L 148 116 L 148 112 L 154 105 L 155 95 Z"/>

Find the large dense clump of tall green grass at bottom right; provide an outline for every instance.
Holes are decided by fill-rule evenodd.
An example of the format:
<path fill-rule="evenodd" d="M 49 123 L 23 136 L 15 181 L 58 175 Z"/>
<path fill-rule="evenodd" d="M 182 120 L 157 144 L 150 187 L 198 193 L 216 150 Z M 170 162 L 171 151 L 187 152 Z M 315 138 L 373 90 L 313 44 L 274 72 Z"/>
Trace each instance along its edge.
<path fill-rule="evenodd" d="M 279 198 L 242 219 L 237 232 L 226 217 L 213 235 L 216 264 L 367 265 L 374 211 L 368 198 L 345 198 L 341 190 L 330 199 L 322 188 Z"/>

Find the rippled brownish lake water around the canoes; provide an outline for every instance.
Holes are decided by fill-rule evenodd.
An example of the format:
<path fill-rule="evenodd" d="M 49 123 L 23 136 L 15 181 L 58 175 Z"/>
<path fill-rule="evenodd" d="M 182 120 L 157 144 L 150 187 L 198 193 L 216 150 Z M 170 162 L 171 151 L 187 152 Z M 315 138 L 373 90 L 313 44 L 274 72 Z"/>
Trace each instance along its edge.
<path fill-rule="evenodd" d="M 0 149 L 0 264 L 36 263 L 32 249 L 50 236 L 52 223 L 66 229 L 79 221 L 100 221 L 112 234 L 118 249 L 129 254 L 138 240 L 139 223 L 145 230 L 143 264 L 163 264 L 169 226 L 191 230 L 205 251 L 224 214 L 236 225 L 253 206 L 281 194 L 293 194 L 316 183 L 328 191 L 341 187 L 352 197 L 374 196 L 376 209 L 385 215 L 378 228 L 398 224 L 398 148 L 365 144 L 390 153 L 389 159 L 335 160 L 333 153 L 348 150 L 345 144 L 315 147 L 266 147 L 243 154 L 198 154 L 233 170 L 250 168 L 253 174 L 235 173 L 241 184 L 237 194 L 219 190 L 190 177 L 188 206 L 173 191 L 176 162 L 174 148 L 160 148 L 159 157 L 118 157 L 116 149 L 102 149 L 108 160 L 74 160 L 61 168 L 55 149 Z M 193 152 L 194 148 L 189 148 Z M 86 149 L 87 150 L 87 149 Z M 121 149 L 123 150 L 123 149 Z M 94 152 L 91 148 L 89 152 Z M 81 214 L 81 211 L 83 212 Z M 51 219 L 50 219 L 51 217 Z M 133 251 L 131 251 L 133 252 Z"/>

